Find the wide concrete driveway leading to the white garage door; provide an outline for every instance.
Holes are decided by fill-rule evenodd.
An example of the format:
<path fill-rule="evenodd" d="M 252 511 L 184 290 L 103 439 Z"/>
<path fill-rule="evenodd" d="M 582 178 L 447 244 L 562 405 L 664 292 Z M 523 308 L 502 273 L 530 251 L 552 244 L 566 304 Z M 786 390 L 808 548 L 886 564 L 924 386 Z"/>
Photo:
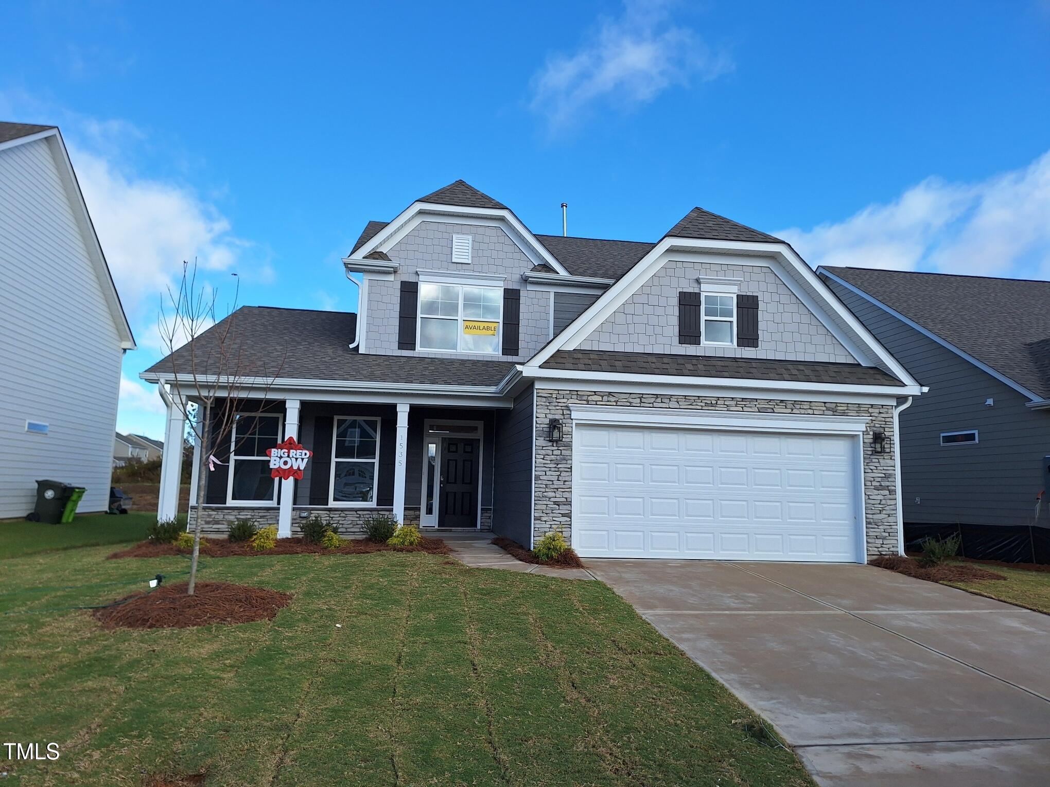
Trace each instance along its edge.
<path fill-rule="evenodd" d="M 586 565 L 822 785 L 1050 784 L 1050 616 L 869 566 Z"/>

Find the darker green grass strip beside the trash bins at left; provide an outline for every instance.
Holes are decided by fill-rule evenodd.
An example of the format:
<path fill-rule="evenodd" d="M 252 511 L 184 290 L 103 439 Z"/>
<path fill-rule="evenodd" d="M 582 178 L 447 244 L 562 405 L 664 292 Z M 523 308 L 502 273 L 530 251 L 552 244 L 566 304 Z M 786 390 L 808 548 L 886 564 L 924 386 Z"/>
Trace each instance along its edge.
<path fill-rule="evenodd" d="M 0 559 L 35 552 L 141 541 L 155 513 L 88 514 L 68 525 L 39 522 L 0 522 Z"/>

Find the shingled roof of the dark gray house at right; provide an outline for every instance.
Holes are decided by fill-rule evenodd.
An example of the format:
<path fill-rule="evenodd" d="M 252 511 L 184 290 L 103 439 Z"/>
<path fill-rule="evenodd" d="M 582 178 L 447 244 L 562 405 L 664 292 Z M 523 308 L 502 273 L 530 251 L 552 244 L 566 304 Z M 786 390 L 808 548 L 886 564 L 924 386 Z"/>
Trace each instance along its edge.
<path fill-rule="evenodd" d="M 820 268 L 950 348 L 1050 398 L 1050 281 Z M 969 360 L 969 359 L 968 359 Z"/>

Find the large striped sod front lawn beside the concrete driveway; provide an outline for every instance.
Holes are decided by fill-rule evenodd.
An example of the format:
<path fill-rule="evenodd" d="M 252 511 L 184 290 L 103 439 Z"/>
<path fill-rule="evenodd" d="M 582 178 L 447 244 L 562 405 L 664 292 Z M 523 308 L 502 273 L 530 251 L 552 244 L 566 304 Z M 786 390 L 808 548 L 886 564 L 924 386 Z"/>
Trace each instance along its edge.
<path fill-rule="evenodd" d="M 210 785 L 297 787 L 812 784 L 601 582 L 418 553 L 204 558 L 203 580 L 294 599 L 273 621 L 189 630 L 21 614 L 186 568 L 109 551 L 0 560 L 0 612 L 20 613 L 0 615 L 0 741 L 62 752 L 0 762 L 5 784 L 202 771 Z M 119 580 L 139 584 L 62 588 Z M 4 595 L 41 586 L 58 589 Z"/>

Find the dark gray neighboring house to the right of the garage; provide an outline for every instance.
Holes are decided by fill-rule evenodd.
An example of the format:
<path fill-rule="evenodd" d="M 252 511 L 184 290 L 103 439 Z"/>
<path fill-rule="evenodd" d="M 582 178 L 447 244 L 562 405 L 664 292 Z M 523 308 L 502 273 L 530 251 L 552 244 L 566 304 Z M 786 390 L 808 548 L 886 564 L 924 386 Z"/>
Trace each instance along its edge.
<path fill-rule="evenodd" d="M 1030 527 L 1050 472 L 1050 282 L 818 273 L 929 388 L 901 413 L 908 539 L 960 531 L 971 557 L 1050 562 L 1050 512 Z"/>

